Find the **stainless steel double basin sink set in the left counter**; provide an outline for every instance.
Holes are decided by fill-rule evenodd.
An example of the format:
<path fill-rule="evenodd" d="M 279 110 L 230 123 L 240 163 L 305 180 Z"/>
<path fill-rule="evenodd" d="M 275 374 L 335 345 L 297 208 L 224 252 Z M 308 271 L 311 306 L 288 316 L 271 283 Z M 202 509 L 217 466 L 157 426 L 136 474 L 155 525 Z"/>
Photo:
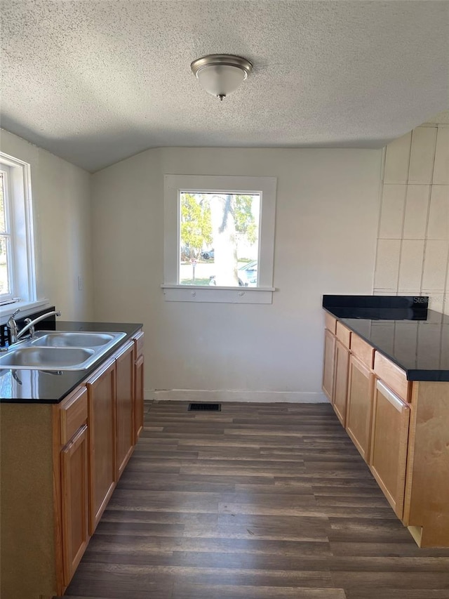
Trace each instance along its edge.
<path fill-rule="evenodd" d="M 85 370 L 126 333 L 39 331 L 0 355 L 0 369 Z"/>

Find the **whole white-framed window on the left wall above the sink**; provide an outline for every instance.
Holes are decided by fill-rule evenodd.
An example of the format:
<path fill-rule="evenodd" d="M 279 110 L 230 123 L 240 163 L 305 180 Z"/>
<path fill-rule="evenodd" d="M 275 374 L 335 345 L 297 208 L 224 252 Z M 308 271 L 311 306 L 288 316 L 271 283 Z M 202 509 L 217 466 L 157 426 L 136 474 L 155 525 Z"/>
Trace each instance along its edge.
<path fill-rule="evenodd" d="M 35 300 L 30 167 L 0 152 L 0 309 Z"/>

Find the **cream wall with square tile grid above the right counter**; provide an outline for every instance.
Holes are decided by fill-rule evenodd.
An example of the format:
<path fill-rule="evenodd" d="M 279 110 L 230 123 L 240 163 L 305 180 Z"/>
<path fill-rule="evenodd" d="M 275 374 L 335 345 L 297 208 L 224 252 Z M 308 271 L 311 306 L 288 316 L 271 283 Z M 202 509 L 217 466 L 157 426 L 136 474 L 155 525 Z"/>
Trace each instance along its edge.
<path fill-rule="evenodd" d="M 449 112 L 387 145 L 375 294 L 449 314 Z"/>

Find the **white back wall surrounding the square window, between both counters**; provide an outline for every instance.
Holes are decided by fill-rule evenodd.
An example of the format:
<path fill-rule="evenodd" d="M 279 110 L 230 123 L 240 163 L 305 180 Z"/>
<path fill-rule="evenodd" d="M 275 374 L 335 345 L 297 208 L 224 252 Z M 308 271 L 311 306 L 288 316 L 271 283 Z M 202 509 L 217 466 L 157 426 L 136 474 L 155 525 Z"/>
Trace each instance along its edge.
<path fill-rule="evenodd" d="M 163 148 L 95 173 L 95 318 L 143 322 L 147 390 L 323 397 L 321 296 L 372 293 L 381 158 L 381 150 Z M 272 305 L 163 300 L 164 173 L 278 178 Z"/>

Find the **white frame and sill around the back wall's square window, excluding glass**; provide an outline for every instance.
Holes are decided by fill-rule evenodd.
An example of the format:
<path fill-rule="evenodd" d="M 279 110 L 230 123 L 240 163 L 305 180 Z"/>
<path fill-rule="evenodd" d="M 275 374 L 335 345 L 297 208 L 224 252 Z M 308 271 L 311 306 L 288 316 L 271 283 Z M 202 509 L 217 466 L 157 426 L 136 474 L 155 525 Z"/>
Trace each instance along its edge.
<path fill-rule="evenodd" d="M 276 177 L 164 175 L 164 251 L 161 285 L 166 301 L 272 303 Z M 180 193 L 260 194 L 257 287 L 182 285 L 180 268 Z"/>

